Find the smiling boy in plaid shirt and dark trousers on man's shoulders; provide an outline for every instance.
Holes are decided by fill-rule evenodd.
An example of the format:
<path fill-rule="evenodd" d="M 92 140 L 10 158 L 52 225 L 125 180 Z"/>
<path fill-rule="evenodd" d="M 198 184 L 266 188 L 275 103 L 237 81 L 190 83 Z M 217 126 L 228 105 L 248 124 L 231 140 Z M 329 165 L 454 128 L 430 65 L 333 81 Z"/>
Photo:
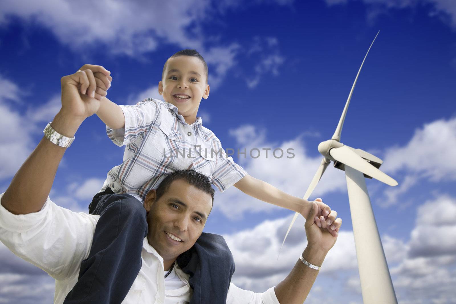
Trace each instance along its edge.
<path fill-rule="evenodd" d="M 90 67 L 84 70 L 90 76 L 88 79 L 93 79 L 91 71 L 88 70 Z M 96 113 L 106 124 L 109 138 L 119 146 L 127 145 L 124 162 L 109 170 L 108 178 L 101 189 L 102 192 L 94 197 L 89 206 L 91 213 L 97 212 L 101 215 L 101 223 L 104 223 L 101 219 L 106 220 L 106 224 L 103 224 L 104 229 L 110 225 L 109 212 L 105 212 L 109 210 L 109 207 L 100 210 L 97 208 L 98 201 L 106 201 L 107 197 L 113 193 L 126 193 L 133 196 L 132 204 L 135 204 L 136 200 L 142 202 L 145 195 L 151 189 L 155 189 L 161 180 L 171 172 L 181 169 L 193 169 L 209 176 L 221 192 L 234 185 L 249 196 L 300 212 L 305 217 L 308 215 L 312 206 L 311 202 L 290 196 L 274 186 L 248 175 L 234 163 L 231 157 L 222 152 L 222 145 L 212 131 L 202 126 L 202 120 L 197 117 L 197 111 L 201 99 L 207 99 L 209 96 L 207 76 L 207 64 L 203 57 L 195 50 L 183 50 L 171 56 L 163 68 L 158 89 L 164 101 L 147 98 L 135 106 L 119 106 L 107 98 L 102 98 L 99 94 L 104 91 L 100 88 L 93 88 L 92 85 L 91 89 L 84 92 L 81 88 L 81 93 L 100 99 Z M 97 76 L 95 75 L 95 77 Z M 103 77 L 106 76 L 98 76 L 97 86 L 107 90 L 107 86 L 103 86 L 103 82 L 106 82 L 106 79 L 101 79 Z M 95 89 L 97 94 L 95 94 Z M 105 92 L 102 94 L 105 95 Z M 316 223 L 324 228 L 327 225 L 328 231 L 337 236 L 337 225 L 332 225 L 333 229 L 330 228 L 337 217 L 337 212 L 331 211 L 323 202 L 317 201 L 317 203 L 320 217 L 315 218 Z M 197 216 L 194 217 L 194 220 L 202 222 L 202 219 Z M 97 230 L 102 231 L 102 228 L 98 227 L 100 222 L 97 224 Z M 135 222 L 131 221 L 128 224 L 135 225 Z M 135 230 L 132 227 L 129 229 Z M 97 230 L 94 238 L 97 237 Z M 144 230 L 144 227 L 141 226 L 140 230 Z M 137 237 L 141 237 L 141 233 Z M 178 240 L 176 236 L 168 235 L 167 237 L 170 240 Z M 131 252 L 129 249 L 116 248 L 115 254 L 126 256 L 128 252 L 130 258 L 140 257 L 140 252 Z M 220 258 L 231 258 L 231 254 Z M 212 265 L 212 267 L 216 266 L 217 263 Z M 90 267 L 94 267 L 94 265 L 87 266 L 87 268 Z M 81 274 L 87 271 L 87 268 L 81 269 Z M 165 270 L 167 271 L 167 269 Z M 170 272 L 172 270 L 173 268 L 169 269 Z M 105 271 L 109 270 L 103 270 L 103 272 Z M 125 269 L 121 269 L 115 273 L 114 281 L 120 282 L 125 271 Z M 130 269 L 131 273 L 135 274 L 135 271 Z M 214 281 L 216 279 L 213 278 Z M 129 285 L 128 280 L 124 280 L 121 285 L 126 287 L 126 291 L 124 291 L 126 294 L 131 284 Z M 77 298 L 77 288 L 78 284 L 68 294 L 67 303 L 70 303 L 70 299 Z M 105 289 L 110 290 L 110 288 Z"/>

